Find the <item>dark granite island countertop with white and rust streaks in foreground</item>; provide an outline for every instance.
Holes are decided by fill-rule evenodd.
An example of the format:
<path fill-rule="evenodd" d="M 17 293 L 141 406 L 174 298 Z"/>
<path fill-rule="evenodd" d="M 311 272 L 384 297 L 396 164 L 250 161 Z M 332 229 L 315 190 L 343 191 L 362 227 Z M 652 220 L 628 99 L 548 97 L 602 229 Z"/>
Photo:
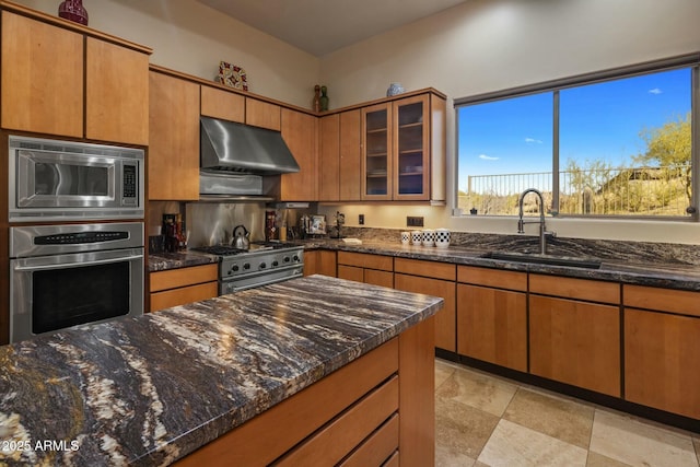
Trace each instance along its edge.
<path fill-rule="evenodd" d="M 0 464 L 166 465 L 442 302 L 312 276 L 0 347 Z"/>

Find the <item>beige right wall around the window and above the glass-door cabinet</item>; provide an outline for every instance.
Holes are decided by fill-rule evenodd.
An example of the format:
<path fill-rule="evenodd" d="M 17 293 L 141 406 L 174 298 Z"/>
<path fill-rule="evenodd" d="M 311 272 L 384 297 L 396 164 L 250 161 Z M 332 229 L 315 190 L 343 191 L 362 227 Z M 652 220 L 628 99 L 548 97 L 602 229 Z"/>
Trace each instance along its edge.
<path fill-rule="evenodd" d="M 432 86 L 452 100 L 596 70 L 700 51 L 697 0 L 470 0 L 429 19 L 322 58 L 319 81 L 334 106 L 385 95 L 393 81 Z M 454 197 L 454 112 L 448 112 L 448 198 Z M 454 202 L 454 201 L 453 201 Z M 348 225 L 404 227 L 424 215 L 428 227 L 514 233 L 514 219 L 453 218 L 446 208 L 341 206 Z M 329 217 L 338 207 L 322 208 Z M 534 233 L 535 225 L 529 226 Z M 632 220 L 548 221 L 560 236 L 700 243 L 697 223 Z M 528 232 L 530 232 L 528 230 Z"/>

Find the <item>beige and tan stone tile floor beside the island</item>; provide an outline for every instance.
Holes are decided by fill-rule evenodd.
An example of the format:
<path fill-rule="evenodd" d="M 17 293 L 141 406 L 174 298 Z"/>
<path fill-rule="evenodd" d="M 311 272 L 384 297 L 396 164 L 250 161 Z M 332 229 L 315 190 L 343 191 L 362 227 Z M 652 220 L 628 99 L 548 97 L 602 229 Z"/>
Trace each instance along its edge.
<path fill-rule="evenodd" d="M 700 434 L 435 361 L 435 465 L 698 467 Z"/>

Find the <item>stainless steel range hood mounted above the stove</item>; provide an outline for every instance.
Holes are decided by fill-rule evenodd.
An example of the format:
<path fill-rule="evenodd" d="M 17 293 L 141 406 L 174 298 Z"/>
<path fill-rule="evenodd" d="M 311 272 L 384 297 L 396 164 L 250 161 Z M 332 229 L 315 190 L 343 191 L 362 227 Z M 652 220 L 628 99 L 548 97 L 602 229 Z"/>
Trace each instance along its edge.
<path fill-rule="evenodd" d="M 201 170 L 279 175 L 300 167 L 279 131 L 201 117 Z"/>

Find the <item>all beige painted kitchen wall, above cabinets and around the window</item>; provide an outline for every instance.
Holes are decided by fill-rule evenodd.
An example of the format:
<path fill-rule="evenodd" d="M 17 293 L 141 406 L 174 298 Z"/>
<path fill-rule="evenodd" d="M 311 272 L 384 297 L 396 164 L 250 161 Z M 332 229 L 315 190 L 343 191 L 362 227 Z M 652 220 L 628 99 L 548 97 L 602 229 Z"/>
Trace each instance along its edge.
<path fill-rule="evenodd" d="M 18 0 L 56 14 L 58 0 Z M 152 62 L 212 79 L 225 59 L 247 70 L 250 91 L 303 107 L 328 85 L 330 107 L 374 100 L 398 81 L 456 97 L 700 50 L 698 0 L 469 0 L 443 13 L 317 59 L 196 0 L 85 0 L 90 25 L 154 49 Z M 348 225 L 513 233 L 513 219 L 452 217 L 454 113 L 448 112 L 448 206 L 322 206 Z M 697 223 L 552 219 L 560 236 L 700 243 Z M 534 227 L 533 227 L 534 229 Z"/>

